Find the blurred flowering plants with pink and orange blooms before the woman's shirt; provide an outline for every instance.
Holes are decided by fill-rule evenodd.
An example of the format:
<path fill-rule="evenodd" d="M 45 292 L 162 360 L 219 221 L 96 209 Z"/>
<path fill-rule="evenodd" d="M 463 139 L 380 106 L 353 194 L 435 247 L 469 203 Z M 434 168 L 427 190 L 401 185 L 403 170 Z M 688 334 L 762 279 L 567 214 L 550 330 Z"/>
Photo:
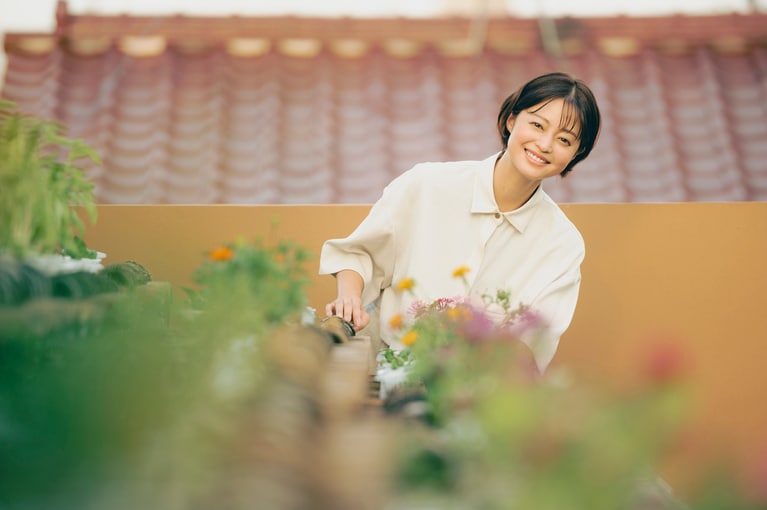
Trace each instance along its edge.
<path fill-rule="evenodd" d="M 544 321 L 512 303 L 499 290 L 479 304 L 466 296 L 417 301 L 410 320 L 398 318 L 407 348 L 379 357 L 379 377 L 396 382 L 382 380 L 385 408 L 407 417 L 395 507 L 679 508 L 665 494 L 641 506 L 663 487 L 654 469 L 682 415 L 672 385 L 618 398 L 563 386 L 538 372 L 519 340 Z M 672 382 L 678 354 L 656 350 L 643 369 Z"/>

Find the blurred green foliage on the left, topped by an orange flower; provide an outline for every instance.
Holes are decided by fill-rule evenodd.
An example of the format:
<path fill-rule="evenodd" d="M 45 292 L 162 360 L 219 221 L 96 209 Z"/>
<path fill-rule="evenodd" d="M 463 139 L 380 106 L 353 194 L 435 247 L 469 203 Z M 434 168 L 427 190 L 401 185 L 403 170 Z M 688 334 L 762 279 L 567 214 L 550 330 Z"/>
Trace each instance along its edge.
<path fill-rule="evenodd" d="M 280 368 L 295 339 L 273 344 L 303 311 L 307 257 L 238 240 L 201 262 L 193 302 L 131 287 L 101 313 L 58 303 L 83 313 L 0 338 L 0 508 L 186 509 L 228 487 L 248 416 L 280 380 L 297 386 Z M 310 402 L 290 391 L 289 409 Z"/>

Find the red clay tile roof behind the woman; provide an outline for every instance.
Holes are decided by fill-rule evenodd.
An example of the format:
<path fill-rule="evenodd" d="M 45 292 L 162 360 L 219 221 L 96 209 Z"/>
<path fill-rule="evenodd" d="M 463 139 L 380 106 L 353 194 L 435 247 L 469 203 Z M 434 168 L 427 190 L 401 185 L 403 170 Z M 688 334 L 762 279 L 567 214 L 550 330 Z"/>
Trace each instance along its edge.
<path fill-rule="evenodd" d="M 503 98 L 564 70 L 604 124 L 557 200 L 767 200 L 767 16 L 472 23 L 60 11 L 6 34 L 2 96 L 98 150 L 100 202 L 369 203 L 416 162 L 497 151 Z"/>

